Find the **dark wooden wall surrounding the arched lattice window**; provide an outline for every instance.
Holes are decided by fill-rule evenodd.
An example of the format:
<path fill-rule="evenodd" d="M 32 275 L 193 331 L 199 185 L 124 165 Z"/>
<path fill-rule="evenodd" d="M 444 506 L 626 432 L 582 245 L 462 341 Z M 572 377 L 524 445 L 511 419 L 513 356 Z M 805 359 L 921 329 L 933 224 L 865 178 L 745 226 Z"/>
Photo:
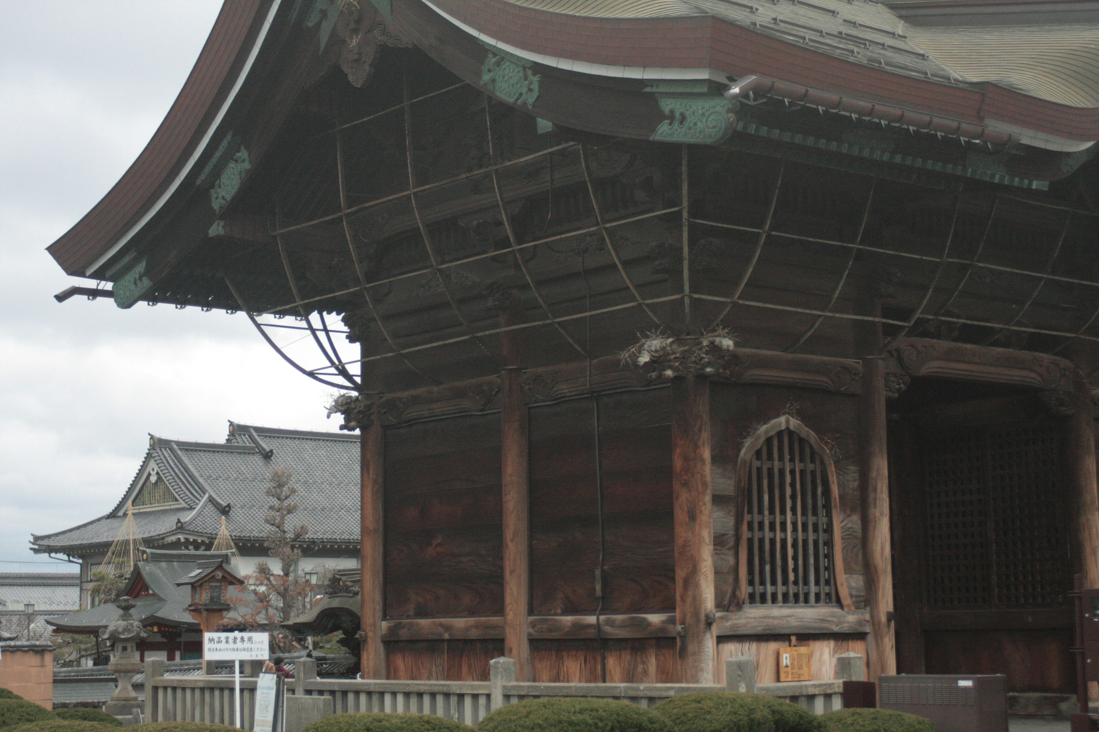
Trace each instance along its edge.
<path fill-rule="evenodd" d="M 710 384 L 711 474 L 713 483 L 713 568 L 718 609 L 730 608 L 740 540 L 735 515 L 736 461 L 753 432 L 791 414 L 832 451 L 840 496 L 843 561 L 856 608 L 863 599 L 863 537 L 858 487 L 858 398 L 814 388 L 761 384 Z"/>

